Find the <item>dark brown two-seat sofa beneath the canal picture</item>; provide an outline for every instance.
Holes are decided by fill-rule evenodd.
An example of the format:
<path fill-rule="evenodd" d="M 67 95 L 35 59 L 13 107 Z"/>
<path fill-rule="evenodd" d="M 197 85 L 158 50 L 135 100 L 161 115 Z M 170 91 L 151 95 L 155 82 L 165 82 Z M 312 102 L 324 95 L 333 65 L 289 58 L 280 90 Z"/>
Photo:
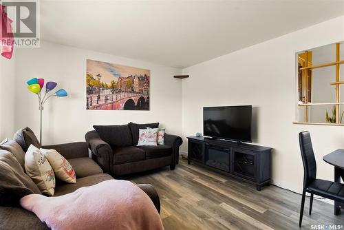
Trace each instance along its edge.
<path fill-rule="evenodd" d="M 165 134 L 164 145 L 136 146 L 138 129 L 157 128 L 159 123 L 96 126 L 85 135 L 92 158 L 107 174 L 122 176 L 178 164 L 182 138 Z"/>

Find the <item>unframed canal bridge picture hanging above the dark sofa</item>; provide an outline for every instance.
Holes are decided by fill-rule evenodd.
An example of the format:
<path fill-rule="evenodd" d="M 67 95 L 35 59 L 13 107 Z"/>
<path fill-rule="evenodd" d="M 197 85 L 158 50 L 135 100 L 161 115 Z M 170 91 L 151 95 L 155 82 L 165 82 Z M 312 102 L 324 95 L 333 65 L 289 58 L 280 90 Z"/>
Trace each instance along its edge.
<path fill-rule="evenodd" d="M 150 75 L 150 70 L 87 59 L 87 109 L 149 110 Z"/>

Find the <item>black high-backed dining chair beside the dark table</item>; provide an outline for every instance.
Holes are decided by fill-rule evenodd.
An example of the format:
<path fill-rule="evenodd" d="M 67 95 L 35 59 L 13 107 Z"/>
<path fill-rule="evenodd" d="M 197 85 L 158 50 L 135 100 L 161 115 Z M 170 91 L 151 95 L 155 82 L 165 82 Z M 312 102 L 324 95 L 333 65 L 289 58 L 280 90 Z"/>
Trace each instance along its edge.
<path fill-rule="evenodd" d="M 305 193 L 310 193 L 310 214 L 312 213 L 313 196 L 322 196 L 330 200 L 344 202 L 344 184 L 330 180 L 316 179 L 316 161 L 310 139 L 310 132 L 299 133 L 299 142 L 303 162 L 303 191 L 300 210 L 299 227 L 302 224 L 303 208 L 305 207 Z"/>

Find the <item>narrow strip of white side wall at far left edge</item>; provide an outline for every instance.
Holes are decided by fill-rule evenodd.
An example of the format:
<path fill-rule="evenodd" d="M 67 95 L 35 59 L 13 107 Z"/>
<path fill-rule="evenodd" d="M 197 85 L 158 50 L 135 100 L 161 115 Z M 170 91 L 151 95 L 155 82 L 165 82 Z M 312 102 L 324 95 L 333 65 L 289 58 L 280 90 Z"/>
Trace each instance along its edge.
<path fill-rule="evenodd" d="M 0 141 L 14 131 L 15 53 L 12 59 L 0 56 Z"/>

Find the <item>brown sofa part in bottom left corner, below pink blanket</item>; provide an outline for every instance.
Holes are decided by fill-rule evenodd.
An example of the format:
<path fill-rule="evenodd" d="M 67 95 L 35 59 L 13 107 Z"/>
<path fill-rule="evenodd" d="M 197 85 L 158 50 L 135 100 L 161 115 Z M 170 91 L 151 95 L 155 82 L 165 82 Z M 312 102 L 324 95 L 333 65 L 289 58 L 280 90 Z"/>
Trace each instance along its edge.
<path fill-rule="evenodd" d="M 0 229 L 49 229 L 32 213 L 20 207 L 0 207 Z"/>

